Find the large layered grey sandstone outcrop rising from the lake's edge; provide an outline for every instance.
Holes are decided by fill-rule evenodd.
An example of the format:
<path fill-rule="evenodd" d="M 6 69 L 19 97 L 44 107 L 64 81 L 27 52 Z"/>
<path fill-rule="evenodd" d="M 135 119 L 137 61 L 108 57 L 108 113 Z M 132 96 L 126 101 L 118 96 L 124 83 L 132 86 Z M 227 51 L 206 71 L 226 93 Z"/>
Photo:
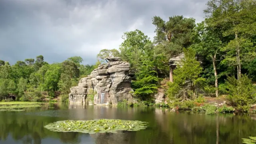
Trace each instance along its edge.
<path fill-rule="evenodd" d="M 70 88 L 69 101 L 73 103 L 92 103 L 96 105 L 117 105 L 126 99 L 132 100 L 130 64 L 121 58 L 107 58 L 107 64 L 100 64 L 78 86 Z"/>

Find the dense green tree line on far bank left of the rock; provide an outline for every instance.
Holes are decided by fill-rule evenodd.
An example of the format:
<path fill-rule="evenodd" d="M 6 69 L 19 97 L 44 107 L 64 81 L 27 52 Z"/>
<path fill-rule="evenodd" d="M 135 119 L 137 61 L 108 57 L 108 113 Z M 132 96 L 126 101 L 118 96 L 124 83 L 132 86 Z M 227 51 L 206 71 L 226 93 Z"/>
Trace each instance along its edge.
<path fill-rule="evenodd" d="M 17 61 L 10 65 L 0 61 L 0 100 L 8 100 L 16 96 L 16 100 L 40 101 L 47 92 L 54 98 L 55 91 L 61 91 L 63 96 L 69 93 L 71 86 L 96 68 L 96 65 L 82 65 L 79 56 L 68 58 L 62 63 L 48 64 L 42 55 Z M 63 97 L 64 98 L 64 97 Z"/>

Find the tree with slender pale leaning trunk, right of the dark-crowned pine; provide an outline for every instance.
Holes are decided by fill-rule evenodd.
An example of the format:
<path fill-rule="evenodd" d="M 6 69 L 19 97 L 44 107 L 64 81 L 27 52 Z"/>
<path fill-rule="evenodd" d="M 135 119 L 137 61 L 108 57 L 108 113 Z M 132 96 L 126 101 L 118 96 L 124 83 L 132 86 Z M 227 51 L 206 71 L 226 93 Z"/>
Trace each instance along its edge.
<path fill-rule="evenodd" d="M 206 56 L 206 58 L 210 58 L 212 61 L 212 66 L 214 70 L 215 77 L 215 94 L 218 97 L 218 73 L 216 69 L 216 61 L 217 54 L 220 52 L 222 47 L 222 41 L 219 38 L 221 36 L 218 34 L 217 30 L 207 26 L 207 24 L 203 21 L 199 23 L 195 28 L 196 37 L 194 40 L 196 41 L 193 47 L 199 54 Z"/>

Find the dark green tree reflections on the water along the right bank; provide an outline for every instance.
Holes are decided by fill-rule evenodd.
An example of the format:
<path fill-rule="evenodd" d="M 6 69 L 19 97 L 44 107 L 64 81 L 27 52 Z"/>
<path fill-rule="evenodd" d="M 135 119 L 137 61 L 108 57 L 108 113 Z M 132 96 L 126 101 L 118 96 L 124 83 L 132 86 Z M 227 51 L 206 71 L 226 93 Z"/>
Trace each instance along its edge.
<path fill-rule="evenodd" d="M 242 138 L 256 134 L 256 121 L 250 116 L 177 114 L 161 109 L 156 109 L 155 116 L 160 129 L 169 134 L 173 144 L 242 144 Z"/>

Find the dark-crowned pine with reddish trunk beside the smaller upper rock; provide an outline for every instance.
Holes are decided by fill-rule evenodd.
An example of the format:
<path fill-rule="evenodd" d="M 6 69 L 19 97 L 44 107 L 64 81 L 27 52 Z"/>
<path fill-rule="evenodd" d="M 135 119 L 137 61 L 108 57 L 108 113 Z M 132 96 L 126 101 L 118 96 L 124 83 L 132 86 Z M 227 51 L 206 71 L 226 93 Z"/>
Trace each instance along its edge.
<path fill-rule="evenodd" d="M 179 54 L 183 48 L 188 48 L 191 45 L 191 34 L 195 27 L 195 19 L 173 16 L 165 22 L 159 16 L 154 16 L 152 21 L 156 26 L 154 42 L 158 44 L 157 54 L 164 57 L 163 62 L 167 65 L 172 56 Z M 172 71 L 173 68 L 170 67 L 170 82 L 173 82 Z"/>

